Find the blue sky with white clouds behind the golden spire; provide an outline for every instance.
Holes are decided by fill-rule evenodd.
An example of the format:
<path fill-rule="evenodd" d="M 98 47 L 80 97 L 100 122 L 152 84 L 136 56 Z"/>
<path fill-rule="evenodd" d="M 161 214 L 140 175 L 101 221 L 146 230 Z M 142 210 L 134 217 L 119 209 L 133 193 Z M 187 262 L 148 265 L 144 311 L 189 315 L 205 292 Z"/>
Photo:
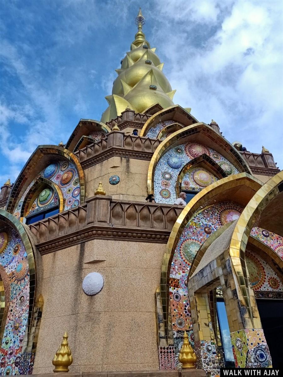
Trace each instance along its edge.
<path fill-rule="evenodd" d="M 100 120 L 139 6 L 174 103 L 283 169 L 280 0 L 0 1 L 0 184 L 38 144 Z"/>

